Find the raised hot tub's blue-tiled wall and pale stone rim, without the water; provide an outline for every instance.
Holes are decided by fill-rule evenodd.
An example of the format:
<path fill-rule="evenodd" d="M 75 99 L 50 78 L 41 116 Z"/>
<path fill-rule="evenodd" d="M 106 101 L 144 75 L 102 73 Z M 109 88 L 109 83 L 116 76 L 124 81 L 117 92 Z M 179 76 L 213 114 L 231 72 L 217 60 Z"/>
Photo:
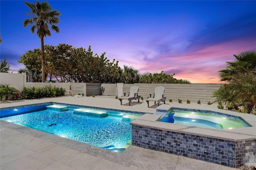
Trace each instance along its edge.
<path fill-rule="evenodd" d="M 250 126 L 210 129 L 160 122 L 170 109 L 171 105 L 160 105 L 156 114 L 145 114 L 132 121 L 132 145 L 233 168 L 256 162 L 256 116 L 212 109 L 220 115 L 240 117 Z"/>

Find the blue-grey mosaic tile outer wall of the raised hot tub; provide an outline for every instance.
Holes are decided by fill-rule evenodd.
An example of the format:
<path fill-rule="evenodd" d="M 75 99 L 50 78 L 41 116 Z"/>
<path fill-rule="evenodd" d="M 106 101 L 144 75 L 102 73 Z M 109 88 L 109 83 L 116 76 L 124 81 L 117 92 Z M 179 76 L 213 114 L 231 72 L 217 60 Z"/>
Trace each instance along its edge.
<path fill-rule="evenodd" d="M 230 141 L 132 125 L 132 145 L 238 168 L 255 162 L 256 140 Z"/>

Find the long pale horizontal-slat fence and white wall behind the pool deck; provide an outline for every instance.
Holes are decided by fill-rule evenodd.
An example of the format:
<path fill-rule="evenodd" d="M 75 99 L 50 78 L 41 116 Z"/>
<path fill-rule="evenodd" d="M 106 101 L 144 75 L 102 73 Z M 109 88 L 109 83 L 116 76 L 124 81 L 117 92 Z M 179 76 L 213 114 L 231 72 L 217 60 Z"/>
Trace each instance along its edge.
<path fill-rule="evenodd" d="M 148 93 L 154 93 L 155 87 L 161 85 L 165 87 L 167 100 L 172 99 L 173 102 L 178 102 L 178 99 L 181 99 L 183 103 L 185 103 L 187 99 L 192 103 L 196 103 L 198 100 L 200 100 L 201 103 L 208 103 L 208 101 L 213 102 L 215 99 L 212 98 L 212 92 L 218 90 L 221 86 L 221 84 L 27 83 L 26 74 L 16 73 L 0 73 L 0 78 L 0 84 L 10 84 L 11 87 L 15 87 L 19 91 L 23 91 L 24 87 L 38 88 L 51 85 L 52 87 L 62 87 L 66 90 L 70 90 L 71 88 L 74 93 L 81 92 L 86 95 L 122 96 L 123 91 L 129 92 L 132 85 L 138 85 L 138 94 L 144 99 L 149 97 Z M 80 91 L 78 91 L 78 87 Z"/>

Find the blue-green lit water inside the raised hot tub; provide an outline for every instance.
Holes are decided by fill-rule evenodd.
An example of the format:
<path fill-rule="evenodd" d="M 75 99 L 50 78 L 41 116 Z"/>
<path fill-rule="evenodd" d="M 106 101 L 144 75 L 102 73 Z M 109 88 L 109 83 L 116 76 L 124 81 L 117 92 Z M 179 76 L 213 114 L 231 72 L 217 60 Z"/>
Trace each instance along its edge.
<path fill-rule="evenodd" d="M 232 119 L 225 115 L 180 110 L 172 110 L 172 112 L 166 114 L 160 121 L 214 129 L 250 127 L 241 119 Z"/>

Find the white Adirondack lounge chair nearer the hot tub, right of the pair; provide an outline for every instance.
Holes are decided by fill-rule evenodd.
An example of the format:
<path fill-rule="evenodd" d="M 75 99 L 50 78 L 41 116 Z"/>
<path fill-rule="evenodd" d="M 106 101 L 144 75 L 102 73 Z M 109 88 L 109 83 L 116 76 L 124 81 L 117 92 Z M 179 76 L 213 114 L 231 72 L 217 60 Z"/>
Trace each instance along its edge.
<path fill-rule="evenodd" d="M 162 86 L 155 87 L 155 92 L 150 93 L 149 94 L 150 98 L 146 99 L 146 102 L 148 103 L 148 107 L 149 107 L 149 101 L 154 101 L 155 104 L 157 102 L 158 106 L 160 105 L 160 102 L 162 102 L 162 101 L 165 104 L 166 97 L 164 97 L 164 89 L 165 88 Z M 152 98 L 151 98 L 151 96 L 152 96 Z"/>

